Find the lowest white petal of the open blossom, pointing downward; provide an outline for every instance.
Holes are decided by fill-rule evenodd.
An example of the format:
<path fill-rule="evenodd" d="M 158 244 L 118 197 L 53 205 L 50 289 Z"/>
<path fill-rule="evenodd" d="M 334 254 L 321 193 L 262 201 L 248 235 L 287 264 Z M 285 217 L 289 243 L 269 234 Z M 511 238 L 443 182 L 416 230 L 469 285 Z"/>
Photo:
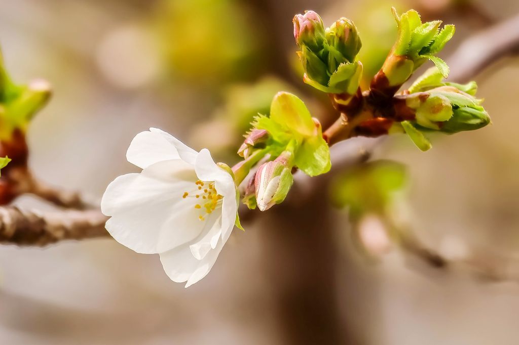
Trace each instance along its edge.
<path fill-rule="evenodd" d="M 185 282 L 188 287 L 205 277 L 216 261 L 225 242 L 218 238 L 215 249 L 211 249 L 202 260 L 197 260 L 188 246 L 179 246 L 160 253 L 162 267 L 168 277 L 178 283 Z"/>

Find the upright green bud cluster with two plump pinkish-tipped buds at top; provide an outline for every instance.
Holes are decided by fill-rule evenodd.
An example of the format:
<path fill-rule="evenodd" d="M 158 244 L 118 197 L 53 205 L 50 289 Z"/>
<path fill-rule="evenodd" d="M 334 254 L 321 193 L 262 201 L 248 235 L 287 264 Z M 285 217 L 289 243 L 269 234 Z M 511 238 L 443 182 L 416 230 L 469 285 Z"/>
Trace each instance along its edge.
<path fill-rule="evenodd" d="M 362 64 L 355 61 L 362 44 L 353 22 L 340 18 L 324 28 L 314 11 L 296 15 L 293 22 L 304 81 L 326 93 L 354 95 L 362 77 Z"/>

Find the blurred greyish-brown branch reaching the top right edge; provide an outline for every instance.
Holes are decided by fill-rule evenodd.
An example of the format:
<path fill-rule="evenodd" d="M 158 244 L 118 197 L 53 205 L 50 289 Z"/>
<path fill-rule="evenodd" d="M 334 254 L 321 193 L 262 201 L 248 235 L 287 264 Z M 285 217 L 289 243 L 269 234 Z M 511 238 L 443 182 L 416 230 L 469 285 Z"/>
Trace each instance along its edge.
<path fill-rule="evenodd" d="M 518 53 L 519 15 L 515 15 L 463 41 L 447 59 L 451 70 L 449 78 L 469 81 L 503 57 Z"/>

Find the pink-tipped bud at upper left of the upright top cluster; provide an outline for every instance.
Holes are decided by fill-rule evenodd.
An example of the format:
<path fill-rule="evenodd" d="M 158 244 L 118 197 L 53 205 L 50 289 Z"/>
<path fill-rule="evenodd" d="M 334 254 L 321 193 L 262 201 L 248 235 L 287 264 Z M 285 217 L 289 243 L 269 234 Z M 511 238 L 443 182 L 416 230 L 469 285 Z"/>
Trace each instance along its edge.
<path fill-rule="evenodd" d="M 294 23 L 294 38 L 299 46 L 308 46 L 311 50 L 319 50 L 324 41 L 324 24 L 321 17 L 314 11 L 305 11 L 304 15 L 296 15 Z"/>

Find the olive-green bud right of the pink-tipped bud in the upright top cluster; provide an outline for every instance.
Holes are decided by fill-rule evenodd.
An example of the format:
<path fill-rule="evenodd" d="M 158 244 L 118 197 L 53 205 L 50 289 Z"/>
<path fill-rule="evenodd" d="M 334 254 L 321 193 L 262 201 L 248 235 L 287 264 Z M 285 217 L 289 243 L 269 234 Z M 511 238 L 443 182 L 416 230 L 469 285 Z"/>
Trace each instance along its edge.
<path fill-rule="evenodd" d="M 353 62 L 362 47 L 362 42 L 357 33 L 357 27 L 347 18 L 340 18 L 326 29 L 326 40 L 348 62 Z M 335 52 L 331 50 L 330 58 L 335 58 Z M 340 59 L 342 60 L 342 59 Z M 344 61 L 338 62 L 337 66 Z M 333 70 L 335 70 L 334 68 Z"/>

